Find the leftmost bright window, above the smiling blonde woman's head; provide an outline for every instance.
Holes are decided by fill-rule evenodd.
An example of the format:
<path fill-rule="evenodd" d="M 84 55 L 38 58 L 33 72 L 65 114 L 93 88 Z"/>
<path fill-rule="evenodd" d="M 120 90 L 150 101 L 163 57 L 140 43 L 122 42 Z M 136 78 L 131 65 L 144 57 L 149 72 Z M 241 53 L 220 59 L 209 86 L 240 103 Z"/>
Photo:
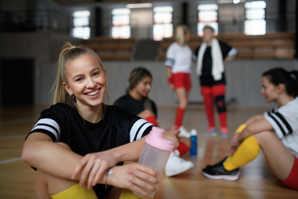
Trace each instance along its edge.
<path fill-rule="evenodd" d="M 90 38 L 90 11 L 89 10 L 80 10 L 74 11 L 73 13 L 73 37 L 80 39 L 89 39 Z"/>

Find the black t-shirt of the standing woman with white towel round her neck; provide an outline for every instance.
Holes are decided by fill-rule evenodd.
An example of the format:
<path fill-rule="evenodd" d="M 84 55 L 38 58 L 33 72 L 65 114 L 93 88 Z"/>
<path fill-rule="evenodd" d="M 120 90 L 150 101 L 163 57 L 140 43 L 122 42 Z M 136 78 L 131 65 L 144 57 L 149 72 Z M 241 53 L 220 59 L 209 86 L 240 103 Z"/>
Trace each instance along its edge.
<path fill-rule="evenodd" d="M 232 49 L 229 45 L 226 43 L 219 41 L 220 47 L 223 54 L 223 59 L 227 56 L 228 52 Z M 194 57 L 197 58 L 199 49 L 201 46 L 199 46 L 195 52 Z M 203 63 L 202 63 L 202 74 L 199 77 L 201 86 L 214 86 L 218 84 L 226 84 L 225 81 L 225 73 L 223 73 L 222 79 L 219 81 L 215 81 L 212 76 L 212 55 L 211 55 L 211 47 L 207 46 L 204 57 L 203 57 Z"/>

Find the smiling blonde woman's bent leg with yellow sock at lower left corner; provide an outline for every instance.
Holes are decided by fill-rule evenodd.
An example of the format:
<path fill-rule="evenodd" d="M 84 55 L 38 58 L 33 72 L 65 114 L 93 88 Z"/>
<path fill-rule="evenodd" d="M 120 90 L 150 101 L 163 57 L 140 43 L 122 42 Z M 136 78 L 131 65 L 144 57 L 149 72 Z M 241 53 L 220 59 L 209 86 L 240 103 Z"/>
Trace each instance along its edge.
<path fill-rule="evenodd" d="M 71 148 L 65 143 L 57 143 L 63 147 L 71 150 Z M 78 181 L 67 180 L 52 176 L 41 170 L 37 170 L 35 181 L 35 196 L 36 199 L 71 199 L 72 194 L 81 195 L 83 198 L 97 199 L 93 189 L 87 190 L 85 185 L 83 188 L 79 188 Z M 51 197 L 52 196 L 52 197 Z M 77 199 L 80 196 L 77 196 Z"/>

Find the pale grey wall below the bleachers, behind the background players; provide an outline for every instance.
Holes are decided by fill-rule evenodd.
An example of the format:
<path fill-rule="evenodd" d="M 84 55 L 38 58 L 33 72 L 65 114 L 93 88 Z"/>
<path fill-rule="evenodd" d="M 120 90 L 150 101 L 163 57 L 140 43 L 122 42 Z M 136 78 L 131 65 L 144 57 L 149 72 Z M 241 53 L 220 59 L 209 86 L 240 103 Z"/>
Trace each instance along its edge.
<path fill-rule="evenodd" d="M 156 104 L 177 104 L 176 94 L 169 91 L 166 79 L 166 70 L 162 61 L 104 61 L 108 77 L 109 102 L 113 103 L 125 94 L 128 87 L 130 72 L 137 66 L 142 66 L 152 73 L 152 90 L 149 97 Z M 234 60 L 225 66 L 226 69 L 226 100 L 237 99 L 240 106 L 264 106 L 266 104 L 261 91 L 262 73 L 274 68 L 283 67 L 286 70 L 298 70 L 297 62 L 293 59 L 287 60 Z M 199 80 L 195 73 L 195 64 L 192 66 L 192 90 L 189 100 L 202 102 L 200 95 Z"/>

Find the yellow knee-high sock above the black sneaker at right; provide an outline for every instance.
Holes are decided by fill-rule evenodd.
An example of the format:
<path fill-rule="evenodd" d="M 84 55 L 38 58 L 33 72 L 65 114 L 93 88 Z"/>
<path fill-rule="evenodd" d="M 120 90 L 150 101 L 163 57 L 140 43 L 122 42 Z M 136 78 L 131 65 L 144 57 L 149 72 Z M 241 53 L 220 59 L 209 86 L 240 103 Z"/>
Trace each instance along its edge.
<path fill-rule="evenodd" d="M 253 135 L 245 138 L 237 151 L 224 162 L 224 169 L 232 171 L 254 160 L 260 152 L 260 145 Z"/>

